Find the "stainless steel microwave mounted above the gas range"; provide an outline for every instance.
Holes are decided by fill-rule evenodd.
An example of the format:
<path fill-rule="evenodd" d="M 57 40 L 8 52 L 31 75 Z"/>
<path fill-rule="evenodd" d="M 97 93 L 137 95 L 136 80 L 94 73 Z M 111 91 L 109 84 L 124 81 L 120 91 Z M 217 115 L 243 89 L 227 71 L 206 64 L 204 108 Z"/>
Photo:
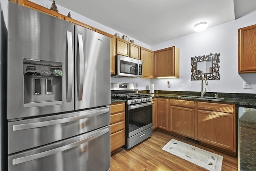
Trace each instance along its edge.
<path fill-rule="evenodd" d="M 142 61 L 122 55 L 116 55 L 116 75 L 113 77 L 142 77 Z"/>

